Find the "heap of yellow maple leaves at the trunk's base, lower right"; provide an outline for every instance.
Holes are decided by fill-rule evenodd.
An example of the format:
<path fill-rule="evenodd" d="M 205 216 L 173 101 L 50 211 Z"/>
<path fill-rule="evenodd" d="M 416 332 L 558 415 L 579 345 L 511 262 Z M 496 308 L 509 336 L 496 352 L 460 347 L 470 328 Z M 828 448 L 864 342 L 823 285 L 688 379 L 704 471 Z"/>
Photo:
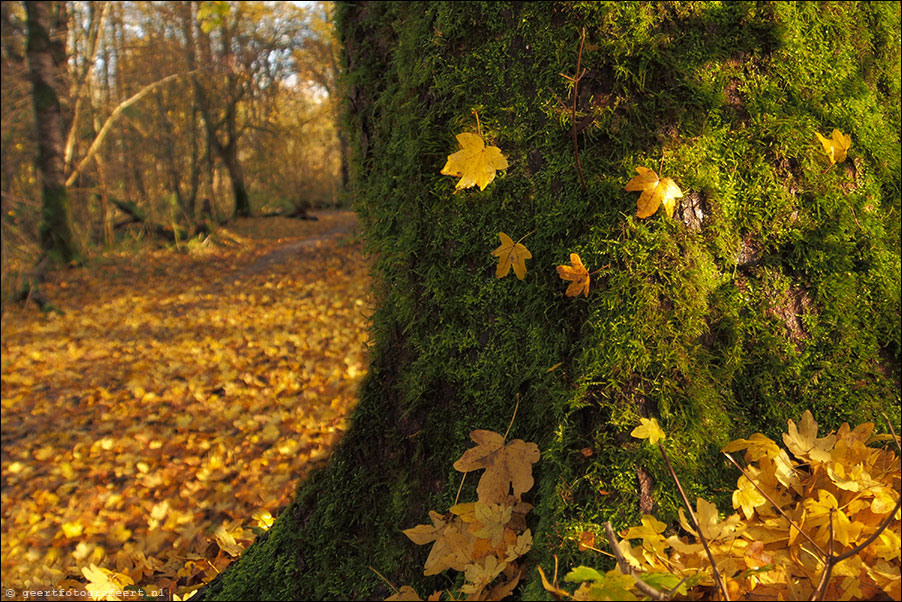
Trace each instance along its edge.
<path fill-rule="evenodd" d="M 733 441 L 724 452 L 745 450 L 748 463 L 733 492 L 738 512 L 722 519 L 699 498 L 693 520 L 680 511 L 691 537 L 666 536 L 667 525 L 646 515 L 617 542 L 634 575 L 582 566 L 564 578 L 582 583 L 574 593 L 547 580 L 546 589 L 577 600 L 636 600 L 644 595 L 638 578 L 677 598 L 710 599 L 723 579 L 732 600 L 898 600 L 899 456 L 868 445 L 886 439 L 870 423 L 823 437 L 817 430 L 806 411 L 799 425 L 789 421 L 785 449 L 760 433 Z M 665 435 L 643 419 L 633 436 Z"/>

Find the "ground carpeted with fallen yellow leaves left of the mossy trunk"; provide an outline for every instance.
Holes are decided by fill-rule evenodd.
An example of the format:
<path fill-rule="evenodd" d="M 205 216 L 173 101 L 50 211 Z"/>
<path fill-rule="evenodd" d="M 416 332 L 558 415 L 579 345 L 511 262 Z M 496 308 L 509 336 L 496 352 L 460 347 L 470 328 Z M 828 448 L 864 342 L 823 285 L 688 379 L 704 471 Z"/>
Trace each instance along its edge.
<path fill-rule="evenodd" d="M 182 253 L 55 273 L 62 315 L 6 308 L 5 591 L 184 595 L 269 526 L 366 370 L 355 227 L 239 220 Z"/>

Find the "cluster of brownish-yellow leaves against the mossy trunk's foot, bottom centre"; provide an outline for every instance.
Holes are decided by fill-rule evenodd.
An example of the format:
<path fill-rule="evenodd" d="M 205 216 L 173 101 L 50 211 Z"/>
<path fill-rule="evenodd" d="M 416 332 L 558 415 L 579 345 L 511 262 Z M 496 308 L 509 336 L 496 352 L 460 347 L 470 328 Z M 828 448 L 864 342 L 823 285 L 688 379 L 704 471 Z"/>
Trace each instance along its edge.
<path fill-rule="evenodd" d="M 476 447 L 464 452 L 454 468 L 464 473 L 485 470 L 476 488 L 478 499 L 455 504 L 446 514 L 430 510 L 431 525 L 418 525 L 404 534 L 418 545 L 432 543 L 425 575 L 448 569 L 462 572 L 465 583 L 460 592 L 468 600 L 501 600 L 520 581 L 517 559 L 532 548 L 532 533 L 526 528 L 532 506 L 521 497 L 532 488 L 532 465 L 539 460 L 539 448 L 521 439 L 505 443 L 493 431 L 476 430 L 470 438 Z M 388 599 L 419 599 L 410 596 L 416 592 L 403 586 Z"/>

